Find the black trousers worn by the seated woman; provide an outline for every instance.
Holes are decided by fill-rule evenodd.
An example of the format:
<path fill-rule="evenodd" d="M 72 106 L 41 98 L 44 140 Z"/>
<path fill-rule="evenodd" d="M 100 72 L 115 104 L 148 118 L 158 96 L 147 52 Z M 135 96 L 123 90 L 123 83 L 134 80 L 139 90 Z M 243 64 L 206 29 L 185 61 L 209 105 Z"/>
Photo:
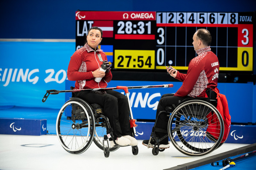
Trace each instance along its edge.
<path fill-rule="evenodd" d="M 114 137 L 132 135 L 130 126 L 130 110 L 128 99 L 122 93 L 114 90 L 79 91 L 75 97 L 84 99 L 89 104 L 100 104 L 103 107 L 103 114 L 108 117 L 111 128 L 114 130 Z"/>

